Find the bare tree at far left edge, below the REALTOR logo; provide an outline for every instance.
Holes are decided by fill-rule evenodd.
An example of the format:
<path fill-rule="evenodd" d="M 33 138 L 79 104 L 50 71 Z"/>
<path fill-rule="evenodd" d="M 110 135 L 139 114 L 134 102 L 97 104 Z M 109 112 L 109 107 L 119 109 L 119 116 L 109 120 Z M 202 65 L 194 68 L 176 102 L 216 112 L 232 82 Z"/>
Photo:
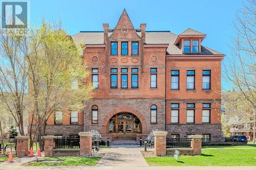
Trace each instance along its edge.
<path fill-rule="evenodd" d="M 26 35 L 0 33 L 0 94 L 7 111 L 13 116 L 19 134 L 24 134 L 24 97 L 27 91 L 27 66 L 19 45 Z"/>

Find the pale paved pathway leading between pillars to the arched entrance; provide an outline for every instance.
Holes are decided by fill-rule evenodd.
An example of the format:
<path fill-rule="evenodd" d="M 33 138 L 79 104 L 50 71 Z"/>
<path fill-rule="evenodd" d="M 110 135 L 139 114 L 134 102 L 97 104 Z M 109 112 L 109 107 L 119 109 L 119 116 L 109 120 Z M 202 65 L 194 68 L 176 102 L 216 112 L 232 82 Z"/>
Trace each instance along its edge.
<path fill-rule="evenodd" d="M 148 166 L 138 145 L 114 145 L 111 149 L 102 149 L 99 154 L 105 156 L 96 166 Z"/>

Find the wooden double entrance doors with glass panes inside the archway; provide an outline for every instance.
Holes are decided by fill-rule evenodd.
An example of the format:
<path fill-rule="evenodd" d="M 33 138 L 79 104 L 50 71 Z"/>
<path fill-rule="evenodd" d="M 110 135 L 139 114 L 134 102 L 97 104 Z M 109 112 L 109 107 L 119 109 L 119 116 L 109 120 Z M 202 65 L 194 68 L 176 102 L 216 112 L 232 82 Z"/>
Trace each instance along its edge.
<path fill-rule="evenodd" d="M 117 138 L 132 139 L 132 120 L 118 120 L 117 122 Z"/>

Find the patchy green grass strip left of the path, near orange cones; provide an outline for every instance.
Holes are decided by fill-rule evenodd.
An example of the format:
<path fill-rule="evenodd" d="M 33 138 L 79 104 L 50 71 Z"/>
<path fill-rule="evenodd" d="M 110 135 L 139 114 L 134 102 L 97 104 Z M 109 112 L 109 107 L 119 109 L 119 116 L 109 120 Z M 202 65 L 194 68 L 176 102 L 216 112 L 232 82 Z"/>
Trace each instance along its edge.
<path fill-rule="evenodd" d="M 59 165 L 69 165 L 69 166 L 78 166 L 78 165 L 96 165 L 96 163 L 101 158 L 85 158 L 85 157 L 44 157 L 43 161 L 53 161 L 53 162 L 30 162 L 30 166 L 59 166 Z"/>

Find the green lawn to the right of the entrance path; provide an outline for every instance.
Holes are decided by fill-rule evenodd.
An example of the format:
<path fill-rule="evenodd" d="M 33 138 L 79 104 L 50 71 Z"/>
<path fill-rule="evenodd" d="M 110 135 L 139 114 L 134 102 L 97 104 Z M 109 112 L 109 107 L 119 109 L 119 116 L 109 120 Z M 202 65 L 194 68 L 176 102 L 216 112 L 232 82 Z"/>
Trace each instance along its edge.
<path fill-rule="evenodd" d="M 151 166 L 256 166 L 254 146 L 216 146 L 217 149 L 214 146 L 205 146 L 204 148 L 207 149 L 202 150 L 202 155 L 180 156 L 178 161 L 174 157 L 146 157 L 145 160 Z"/>

